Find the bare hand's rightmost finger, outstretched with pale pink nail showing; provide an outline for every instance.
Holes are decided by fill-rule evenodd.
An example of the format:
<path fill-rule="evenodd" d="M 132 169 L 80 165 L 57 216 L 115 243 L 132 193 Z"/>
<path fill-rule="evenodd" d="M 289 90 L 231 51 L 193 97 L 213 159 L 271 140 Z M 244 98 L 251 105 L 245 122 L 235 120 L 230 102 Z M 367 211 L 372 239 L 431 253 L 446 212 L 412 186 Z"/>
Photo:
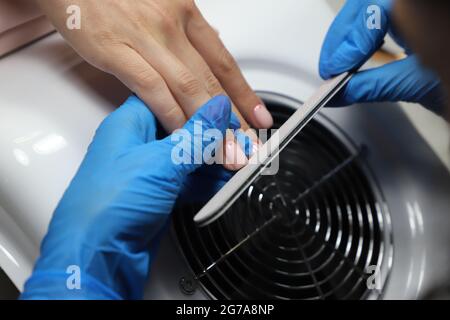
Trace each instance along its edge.
<path fill-rule="evenodd" d="M 194 48 L 208 64 L 245 120 L 256 128 L 270 128 L 273 125 L 272 116 L 245 80 L 217 32 L 211 28 L 198 8 L 194 10 L 186 32 Z"/>

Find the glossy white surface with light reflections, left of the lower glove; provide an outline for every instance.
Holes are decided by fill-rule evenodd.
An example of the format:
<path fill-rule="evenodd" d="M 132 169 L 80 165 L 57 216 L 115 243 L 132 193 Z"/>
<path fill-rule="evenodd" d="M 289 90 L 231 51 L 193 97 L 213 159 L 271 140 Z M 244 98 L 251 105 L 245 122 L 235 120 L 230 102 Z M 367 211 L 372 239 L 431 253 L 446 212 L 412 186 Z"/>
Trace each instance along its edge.
<path fill-rule="evenodd" d="M 59 35 L 0 60 L 0 265 L 19 288 L 100 121 L 127 95 Z"/>

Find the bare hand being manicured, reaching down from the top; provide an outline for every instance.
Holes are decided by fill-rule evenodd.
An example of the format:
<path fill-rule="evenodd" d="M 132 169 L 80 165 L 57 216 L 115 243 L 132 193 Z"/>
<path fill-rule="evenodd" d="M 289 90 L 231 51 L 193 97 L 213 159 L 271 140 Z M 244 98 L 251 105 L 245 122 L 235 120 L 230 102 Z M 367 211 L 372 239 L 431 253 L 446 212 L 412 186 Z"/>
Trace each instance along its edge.
<path fill-rule="evenodd" d="M 243 129 L 247 123 L 271 127 L 270 114 L 194 0 L 39 2 L 75 50 L 151 106 L 167 132 L 223 94 L 236 106 Z M 81 9 L 79 30 L 66 27 L 71 5 Z"/>

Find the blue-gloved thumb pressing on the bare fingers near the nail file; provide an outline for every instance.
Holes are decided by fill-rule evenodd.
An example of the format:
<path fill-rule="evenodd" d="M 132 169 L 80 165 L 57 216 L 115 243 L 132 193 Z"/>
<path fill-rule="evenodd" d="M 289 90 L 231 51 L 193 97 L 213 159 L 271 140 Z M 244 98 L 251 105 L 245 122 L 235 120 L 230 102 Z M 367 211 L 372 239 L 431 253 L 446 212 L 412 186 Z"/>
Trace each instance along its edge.
<path fill-rule="evenodd" d="M 202 106 L 183 128 L 163 141 L 171 148 L 171 161 L 183 176 L 214 160 L 230 125 L 231 102 L 217 96 Z"/>

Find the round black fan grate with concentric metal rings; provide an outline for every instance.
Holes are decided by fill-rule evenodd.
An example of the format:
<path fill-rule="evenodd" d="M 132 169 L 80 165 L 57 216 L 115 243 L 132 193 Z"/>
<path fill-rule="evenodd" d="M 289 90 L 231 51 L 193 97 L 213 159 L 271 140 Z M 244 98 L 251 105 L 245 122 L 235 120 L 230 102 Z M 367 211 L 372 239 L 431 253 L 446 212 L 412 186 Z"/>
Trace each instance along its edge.
<path fill-rule="evenodd" d="M 293 112 L 268 102 L 276 126 Z M 278 174 L 260 177 L 216 222 L 193 223 L 201 205 L 175 210 L 192 281 L 218 299 L 367 298 L 370 265 L 385 282 L 389 216 L 364 148 L 342 139 L 312 121 L 282 152 Z"/>

